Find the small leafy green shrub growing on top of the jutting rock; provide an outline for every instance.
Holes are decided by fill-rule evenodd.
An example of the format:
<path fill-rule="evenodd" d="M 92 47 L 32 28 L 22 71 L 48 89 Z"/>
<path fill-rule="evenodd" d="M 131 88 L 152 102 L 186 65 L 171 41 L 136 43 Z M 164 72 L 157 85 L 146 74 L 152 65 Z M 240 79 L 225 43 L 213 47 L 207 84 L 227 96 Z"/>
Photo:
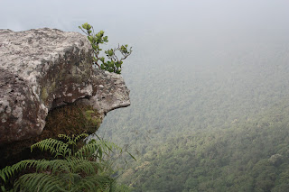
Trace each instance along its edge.
<path fill-rule="evenodd" d="M 88 35 L 91 47 L 94 50 L 93 64 L 97 66 L 98 69 L 120 74 L 123 60 L 132 53 L 132 47 L 128 48 L 127 44 L 121 46 L 118 44 L 118 47 L 115 49 L 105 50 L 108 59 L 106 60 L 104 57 L 99 56 L 101 50 L 99 45 L 108 42 L 107 36 L 104 36 L 105 32 L 100 31 L 95 34 L 93 27 L 89 23 L 82 24 L 79 26 L 79 29 Z"/>

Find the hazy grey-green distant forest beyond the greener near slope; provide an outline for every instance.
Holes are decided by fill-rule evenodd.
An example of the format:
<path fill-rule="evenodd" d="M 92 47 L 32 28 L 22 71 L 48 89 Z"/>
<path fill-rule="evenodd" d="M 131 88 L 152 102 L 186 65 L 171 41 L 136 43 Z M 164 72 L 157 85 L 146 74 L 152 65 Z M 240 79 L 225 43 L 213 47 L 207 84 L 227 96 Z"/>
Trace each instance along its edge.
<path fill-rule="evenodd" d="M 145 56 L 132 55 L 124 69 L 132 105 L 108 113 L 99 133 L 142 150 L 149 140 L 163 142 L 191 130 L 229 127 L 288 96 L 289 48 L 285 44 L 264 48 L 255 42 L 243 47 L 247 50 L 236 46 L 215 55 L 211 50 L 212 58 L 200 54 L 198 62 L 182 68 L 172 61 L 155 66 Z M 141 59 L 148 63 L 142 69 L 135 66 Z"/>

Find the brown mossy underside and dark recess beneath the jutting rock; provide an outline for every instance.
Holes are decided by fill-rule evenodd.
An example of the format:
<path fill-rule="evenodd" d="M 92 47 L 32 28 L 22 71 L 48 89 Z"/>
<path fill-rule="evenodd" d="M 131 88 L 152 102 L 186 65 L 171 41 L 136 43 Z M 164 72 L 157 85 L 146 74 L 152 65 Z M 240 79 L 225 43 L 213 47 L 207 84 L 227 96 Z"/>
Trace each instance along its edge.
<path fill-rule="evenodd" d="M 90 105 L 69 104 L 52 109 L 46 117 L 46 125 L 41 135 L 20 142 L 0 146 L 2 159 L 0 169 L 6 165 L 25 159 L 42 159 L 43 153 L 31 153 L 30 146 L 44 139 L 58 139 L 58 134 L 95 133 L 102 116 Z"/>

